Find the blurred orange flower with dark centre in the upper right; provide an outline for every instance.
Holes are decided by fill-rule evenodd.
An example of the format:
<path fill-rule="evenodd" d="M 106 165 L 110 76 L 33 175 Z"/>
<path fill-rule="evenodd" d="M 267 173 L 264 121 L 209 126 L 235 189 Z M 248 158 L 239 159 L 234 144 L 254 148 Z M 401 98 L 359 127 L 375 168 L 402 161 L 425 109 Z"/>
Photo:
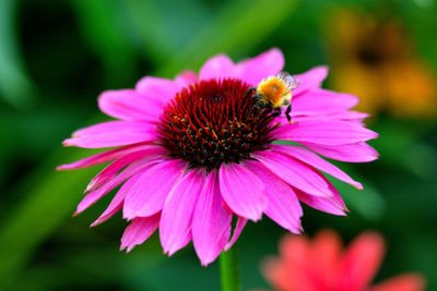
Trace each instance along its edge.
<path fill-rule="evenodd" d="M 331 85 L 358 95 L 357 110 L 428 119 L 436 116 L 435 75 L 414 54 L 399 21 L 338 10 L 326 25 Z"/>

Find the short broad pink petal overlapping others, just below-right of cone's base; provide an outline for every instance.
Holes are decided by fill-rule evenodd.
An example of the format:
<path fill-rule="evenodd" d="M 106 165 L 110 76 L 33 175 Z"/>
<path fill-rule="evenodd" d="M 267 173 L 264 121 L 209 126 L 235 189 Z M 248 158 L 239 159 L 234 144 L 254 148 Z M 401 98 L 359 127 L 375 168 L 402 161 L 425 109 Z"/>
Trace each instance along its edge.
<path fill-rule="evenodd" d="M 229 208 L 245 218 L 261 219 L 267 207 L 262 181 L 238 163 L 223 165 L 218 171 L 220 191 Z"/>

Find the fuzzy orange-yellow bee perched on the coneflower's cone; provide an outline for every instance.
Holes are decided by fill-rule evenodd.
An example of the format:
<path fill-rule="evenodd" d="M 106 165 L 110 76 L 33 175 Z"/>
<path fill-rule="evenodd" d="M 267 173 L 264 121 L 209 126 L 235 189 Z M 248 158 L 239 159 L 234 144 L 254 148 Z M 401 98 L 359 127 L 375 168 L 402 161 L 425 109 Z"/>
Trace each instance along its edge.
<path fill-rule="evenodd" d="M 248 98 L 255 92 L 252 98 L 256 99 L 256 104 L 250 109 L 249 114 L 257 107 L 259 110 L 268 108 L 273 117 L 277 117 L 282 113 L 282 107 L 288 106 L 285 117 L 292 123 L 290 116 L 290 112 L 292 112 L 292 90 L 297 88 L 300 82 L 287 72 L 263 78 L 257 87 L 250 87 L 246 93 L 246 98 Z"/>

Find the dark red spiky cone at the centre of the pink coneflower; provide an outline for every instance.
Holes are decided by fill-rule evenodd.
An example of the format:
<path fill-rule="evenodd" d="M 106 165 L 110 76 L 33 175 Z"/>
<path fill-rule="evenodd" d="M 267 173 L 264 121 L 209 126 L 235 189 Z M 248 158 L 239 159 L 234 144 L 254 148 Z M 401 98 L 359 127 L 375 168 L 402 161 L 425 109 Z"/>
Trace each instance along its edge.
<path fill-rule="evenodd" d="M 240 80 L 201 81 L 184 88 L 165 108 L 157 132 L 172 157 L 211 171 L 239 162 L 271 143 L 270 109 L 253 107 Z"/>

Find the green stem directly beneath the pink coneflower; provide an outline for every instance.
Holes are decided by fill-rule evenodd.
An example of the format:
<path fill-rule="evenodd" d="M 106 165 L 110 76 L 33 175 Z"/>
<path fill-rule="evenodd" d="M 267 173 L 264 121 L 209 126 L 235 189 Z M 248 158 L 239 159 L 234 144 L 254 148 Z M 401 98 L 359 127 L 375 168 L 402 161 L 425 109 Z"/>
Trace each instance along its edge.
<path fill-rule="evenodd" d="M 238 248 L 235 244 L 220 255 L 220 274 L 223 291 L 240 291 Z"/>

